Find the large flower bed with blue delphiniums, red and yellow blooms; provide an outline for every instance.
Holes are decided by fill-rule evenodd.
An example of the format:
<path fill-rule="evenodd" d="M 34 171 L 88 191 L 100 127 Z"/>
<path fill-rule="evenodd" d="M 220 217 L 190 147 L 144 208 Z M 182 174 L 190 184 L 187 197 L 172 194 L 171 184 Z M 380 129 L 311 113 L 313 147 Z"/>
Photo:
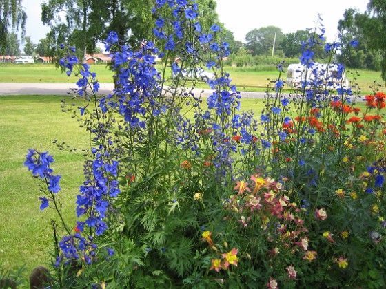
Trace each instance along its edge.
<path fill-rule="evenodd" d="M 74 118 L 90 131 L 92 149 L 77 226 L 54 227 L 53 286 L 68 277 L 111 288 L 384 286 L 385 94 L 366 96 L 360 114 L 352 89 L 324 83 L 313 69 L 312 49 L 323 35 L 311 33 L 300 60 L 316 75 L 305 74 L 303 89 L 287 96 L 278 64 L 254 118 L 239 112 L 240 93 L 223 71 L 229 52 L 216 41 L 219 26 L 203 32 L 194 1 L 157 0 L 153 12 L 162 48 L 147 41 L 133 52 L 114 32 L 106 39 L 112 94 L 98 96 L 96 75 L 71 48 L 60 61 L 68 75 L 79 67 L 85 104 Z M 326 59 L 337 47 L 326 45 Z M 172 63 L 169 78 L 174 55 L 181 62 Z M 203 66 L 214 73 L 206 103 L 194 90 L 201 82 L 187 85 L 179 74 Z M 41 209 L 54 206 L 60 216 L 53 162 L 30 149 L 26 166 L 43 183 Z"/>

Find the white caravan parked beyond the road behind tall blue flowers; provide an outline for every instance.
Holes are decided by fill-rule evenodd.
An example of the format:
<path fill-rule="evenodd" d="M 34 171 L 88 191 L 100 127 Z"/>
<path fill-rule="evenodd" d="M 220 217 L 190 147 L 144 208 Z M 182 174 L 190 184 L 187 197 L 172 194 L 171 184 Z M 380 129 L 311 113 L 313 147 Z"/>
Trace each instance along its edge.
<path fill-rule="evenodd" d="M 290 64 L 287 67 L 287 86 L 291 88 L 301 88 L 305 82 L 306 88 L 317 85 L 327 89 L 337 89 L 349 87 L 349 81 L 343 72 L 341 78 L 338 78 L 338 65 L 314 63 L 312 67 L 306 67 L 301 63 Z"/>

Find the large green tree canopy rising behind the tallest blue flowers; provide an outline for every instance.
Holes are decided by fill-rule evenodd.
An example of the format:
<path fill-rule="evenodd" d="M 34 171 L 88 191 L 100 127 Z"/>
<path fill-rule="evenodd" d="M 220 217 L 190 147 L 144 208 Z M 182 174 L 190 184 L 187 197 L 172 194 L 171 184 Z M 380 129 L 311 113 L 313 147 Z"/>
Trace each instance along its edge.
<path fill-rule="evenodd" d="M 110 31 L 131 48 L 139 48 L 144 39 L 153 39 L 152 8 L 155 1 L 143 0 L 48 0 L 41 5 L 43 24 L 50 25 L 51 43 L 68 43 L 81 52 L 94 53 L 96 44 Z M 216 1 L 198 0 L 203 27 L 218 22 Z M 64 14 L 64 17 L 63 17 Z M 52 56 L 57 51 L 50 52 Z"/>

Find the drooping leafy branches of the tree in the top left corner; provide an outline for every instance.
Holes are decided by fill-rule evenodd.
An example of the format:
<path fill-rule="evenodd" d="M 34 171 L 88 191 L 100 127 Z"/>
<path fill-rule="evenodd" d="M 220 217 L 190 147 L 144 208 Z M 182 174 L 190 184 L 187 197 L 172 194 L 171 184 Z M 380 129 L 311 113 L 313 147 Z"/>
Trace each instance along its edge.
<path fill-rule="evenodd" d="M 24 36 L 27 15 L 21 8 L 22 0 L 0 0 L 0 53 L 5 52 L 10 28 Z"/>

